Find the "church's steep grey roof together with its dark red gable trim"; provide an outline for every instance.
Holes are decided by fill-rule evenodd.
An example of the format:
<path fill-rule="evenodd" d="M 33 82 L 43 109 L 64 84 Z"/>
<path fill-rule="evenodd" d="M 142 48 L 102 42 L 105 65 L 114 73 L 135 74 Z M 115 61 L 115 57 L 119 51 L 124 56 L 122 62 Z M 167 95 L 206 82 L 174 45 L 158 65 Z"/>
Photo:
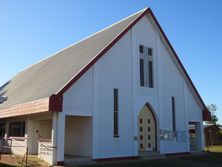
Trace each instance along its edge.
<path fill-rule="evenodd" d="M 57 103 L 59 101 L 61 103 L 63 93 L 146 14 L 154 20 L 202 107 L 207 111 L 197 89 L 150 8 L 141 10 L 18 73 L 0 88 L 0 96 L 6 97 L 6 100 L 0 104 L 0 110 L 46 97 L 50 98 L 49 108 L 61 110 L 61 104 Z"/>

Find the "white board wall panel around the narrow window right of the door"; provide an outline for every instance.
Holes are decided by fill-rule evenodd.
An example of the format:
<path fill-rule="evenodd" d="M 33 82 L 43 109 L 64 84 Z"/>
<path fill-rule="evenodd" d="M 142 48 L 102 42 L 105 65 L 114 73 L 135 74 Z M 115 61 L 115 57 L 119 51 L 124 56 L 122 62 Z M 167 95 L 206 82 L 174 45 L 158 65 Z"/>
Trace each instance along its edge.
<path fill-rule="evenodd" d="M 172 121 L 172 102 L 171 97 L 175 98 L 176 130 L 186 131 L 186 142 L 173 140 L 161 141 L 161 152 L 179 153 L 188 152 L 188 120 L 186 119 L 185 97 L 184 97 L 184 78 L 175 64 L 172 54 L 169 53 L 162 40 L 159 38 L 159 104 L 160 104 L 160 128 L 173 130 Z M 166 121 L 167 120 L 167 121 Z"/>

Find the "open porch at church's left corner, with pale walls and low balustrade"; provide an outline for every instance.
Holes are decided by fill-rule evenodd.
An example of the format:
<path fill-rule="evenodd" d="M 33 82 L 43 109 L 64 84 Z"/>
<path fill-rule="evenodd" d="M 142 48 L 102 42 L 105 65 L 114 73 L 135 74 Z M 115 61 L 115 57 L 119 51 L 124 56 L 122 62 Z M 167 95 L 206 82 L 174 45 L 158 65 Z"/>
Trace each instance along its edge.
<path fill-rule="evenodd" d="M 0 151 L 38 155 L 49 164 L 92 158 L 92 117 L 58 112 L 1 119 Z"/>

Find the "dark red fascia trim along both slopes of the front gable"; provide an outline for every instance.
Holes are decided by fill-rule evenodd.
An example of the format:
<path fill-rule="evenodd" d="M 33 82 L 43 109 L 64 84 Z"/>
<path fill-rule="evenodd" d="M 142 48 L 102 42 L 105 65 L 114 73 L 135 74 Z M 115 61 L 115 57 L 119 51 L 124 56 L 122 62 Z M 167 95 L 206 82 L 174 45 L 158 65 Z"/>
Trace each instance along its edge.
<path fill-rule="evenodd" d="M 173 52 L 173 55 L 175 56 L 176 60 L 178 61 L 179 65 L 181 66 L 181 69 L 183 70 L 184 74 L 186 75 L 188 81 L 190 82 L 194 92 L 196 93 L 197 97 L 199 98 L 201 104 L 204 107 L 204 112 L 208 111 L 206 105 L 204 104 L 199 92 L 197 91 L 196 87 L 194 86 L 192 80 L 190 79 L 190 76 L 186 72 L 182 62 L 180 61 L 176 51 L 174 50 L 173 46 L 171 45 L 170 41 L 168 40 L 166 34 L 164 33 L 162 27 L 160 26 L 159 22 L 157 21 L 156 17 L 154 16 L 151 8 L 147 8 L 141 15 L 139 15 L 125 30 L 123 30 L 111 43 L 109 43 L 94 59 L 91 60 L 76 76 L 74 76 L 56 95 L 52 95 L 53 97 L 50 99 L 62 99 L 63 94 L 84 74 L 90 67 L 92 67 L 113 45 L 115 45 L 143 16 L 146 14 L 150 14 L 154 22 L 156 23 L 157 27 L 159 28 L 163 38 L 166 40 L 167 44 L 169 45 L 171 51 Z M 56 96 L 56 97 L 54 97 Z M 50 100 L 51 102 L 51 100 Z M 55 101 L 51 102 L 52 109 L 55 108 L 56 111 L 62 111 L 62 104 L 56 104 Z M 59 101 L 62 103 L 61 101 Z M 56 105 L 55 107 L 53 105 Z"/>

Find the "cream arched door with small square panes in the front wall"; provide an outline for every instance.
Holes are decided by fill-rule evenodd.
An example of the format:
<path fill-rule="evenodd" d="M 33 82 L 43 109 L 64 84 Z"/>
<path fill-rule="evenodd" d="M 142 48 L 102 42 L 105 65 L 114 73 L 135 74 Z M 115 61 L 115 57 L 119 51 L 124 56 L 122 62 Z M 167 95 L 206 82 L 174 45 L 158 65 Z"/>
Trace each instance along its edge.
<path fill-rule="evenodd" d="M 157 151 L 157 125 L 153 111 L 144 105 L 138 116 L 139 152 Z"/>

